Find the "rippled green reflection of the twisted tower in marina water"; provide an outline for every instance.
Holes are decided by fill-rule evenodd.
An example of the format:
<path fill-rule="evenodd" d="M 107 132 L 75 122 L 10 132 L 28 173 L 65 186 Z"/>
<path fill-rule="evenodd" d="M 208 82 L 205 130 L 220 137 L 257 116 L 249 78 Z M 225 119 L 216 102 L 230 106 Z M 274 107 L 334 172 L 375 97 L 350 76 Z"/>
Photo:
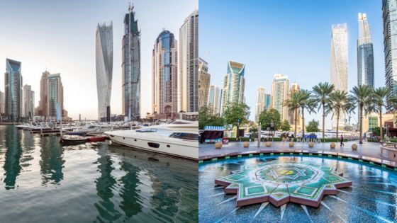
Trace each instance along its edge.
<path fill-rule="evenodd" d="M 117 181 L 111 174 L 114 170 L 113 161 L 108 152 L 104 150 L 106 148 L 99 147 L 98 149 L 98 159 L 95 164 L 98 165 L 99 172 L 101 176 L 96 178 L 96 195 L 101 198 L 98 202 L 94 204 L 96 210 L 99 212 L 99 216 L 96 219 L 99 222 L 111 222 L 121 217 L 121 213 L 115 209 L 115 205 L 111 201 L 113 198 L 113 187 L 116 185 Z"/>

